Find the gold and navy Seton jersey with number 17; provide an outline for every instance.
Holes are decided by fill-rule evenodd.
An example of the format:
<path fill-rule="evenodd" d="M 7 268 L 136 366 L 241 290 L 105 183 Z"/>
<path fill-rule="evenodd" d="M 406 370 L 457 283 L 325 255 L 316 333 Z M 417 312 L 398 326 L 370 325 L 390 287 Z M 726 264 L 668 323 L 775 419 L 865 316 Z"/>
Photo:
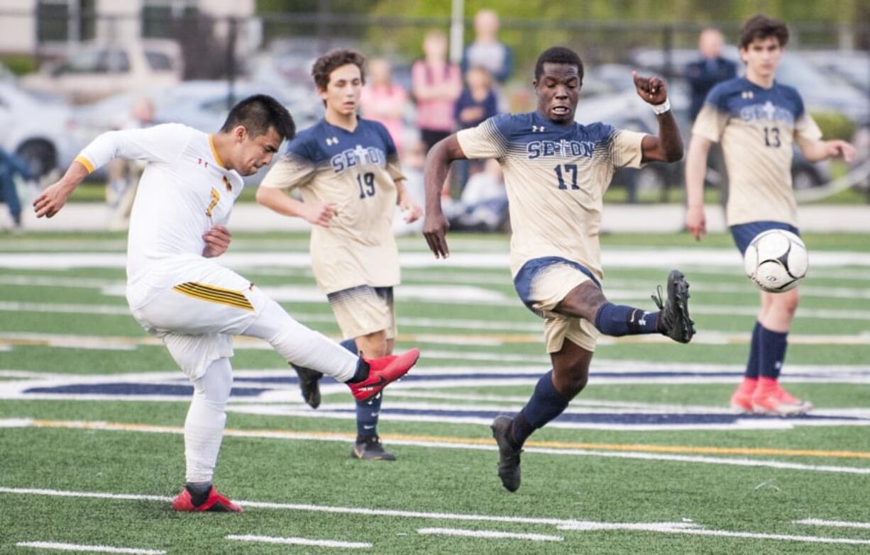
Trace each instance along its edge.
<path fill-rule="evenodd" d="M 644 134 L 603 123 L 559 125 L 538 112 L 494 116 L 457 133 L 469 158 L 495 158 L 510 201 L 511 271 L 558 256 L 599 280 L 602 197 L 615 168 L 639 168 Z"/>

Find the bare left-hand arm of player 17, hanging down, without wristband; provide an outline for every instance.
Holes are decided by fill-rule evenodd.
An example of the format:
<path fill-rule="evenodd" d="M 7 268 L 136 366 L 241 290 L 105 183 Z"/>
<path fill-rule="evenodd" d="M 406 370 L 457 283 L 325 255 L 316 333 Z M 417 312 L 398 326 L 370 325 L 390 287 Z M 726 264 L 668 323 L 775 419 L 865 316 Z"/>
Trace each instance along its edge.
<path fill-rule="evenodd" d="M 425 219 L 423 220 L 423 235 L 429 248 L 435 254 L 435 258 L 447 258 L 450 249 L 447 248 L 447 230 L 450 222 L 441 211 L 441 189 L 447 178 L 450 163 L 454 160 L 465 160 L 465 153 L 459 146 L 456 134 L 452 134 L 429 150 L 423 168 L 423 181 L 425 184 Z"/>

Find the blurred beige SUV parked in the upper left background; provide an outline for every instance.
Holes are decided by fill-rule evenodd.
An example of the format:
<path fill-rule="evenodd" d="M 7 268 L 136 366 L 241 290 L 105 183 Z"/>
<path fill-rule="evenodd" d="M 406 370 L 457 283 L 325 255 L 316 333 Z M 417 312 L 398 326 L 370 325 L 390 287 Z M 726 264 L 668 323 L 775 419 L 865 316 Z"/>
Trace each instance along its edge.
<path fill-rule="evenodd" d="M 142 90 L 181 80 L 181 50 L 169 40 L 90 45 L 63 63 L 46 63 L 20 80 L 25 89 L 91 102 L 125 90 Z"/>

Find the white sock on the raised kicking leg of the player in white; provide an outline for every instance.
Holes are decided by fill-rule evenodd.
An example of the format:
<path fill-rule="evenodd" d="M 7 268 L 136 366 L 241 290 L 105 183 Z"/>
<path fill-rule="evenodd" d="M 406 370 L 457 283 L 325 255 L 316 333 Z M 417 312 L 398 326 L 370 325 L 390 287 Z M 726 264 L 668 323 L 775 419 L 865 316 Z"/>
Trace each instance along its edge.
<path fill-rule="evenodd" d="M 347 381 L 357 373 L 358 357 L 324 334 L 293 320 L 277 302 L 267 299 L 263 310 L 243 335 L 269 341 L 272 347 L 299 367 L 311 368 Z"/>

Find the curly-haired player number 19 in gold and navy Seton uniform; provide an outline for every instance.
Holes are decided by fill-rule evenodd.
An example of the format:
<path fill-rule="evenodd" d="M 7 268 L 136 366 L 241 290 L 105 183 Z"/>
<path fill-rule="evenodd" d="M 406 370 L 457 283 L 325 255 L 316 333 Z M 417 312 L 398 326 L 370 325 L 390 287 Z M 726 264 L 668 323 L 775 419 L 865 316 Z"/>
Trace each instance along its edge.
<path fill-rule="evenodd" d="M 396 314 L 392 288 L 398 285 L 398 248 L 392 218 L 398 204 L 405 221 L 423 211 L 405 193 L 398 152 L 386 128 L 357 116 L 365 83 L 365 57 L 332 50 L 318 57 L 311 76 L 323 99 L 322 120 L 287 145 L 257 191 L 257 201 L 278 214 L 305 218 L 311 229 L 311 267 L 326 294 L 351 353 L 392 353 Z M 302 201 L 284 193 L 298 188 Z M 294 365 L 302 395 L 320 404 L 322 373 Z M 378 437 L 382 396 L 357 401 L 358 459 L 394 460 Z"/>

